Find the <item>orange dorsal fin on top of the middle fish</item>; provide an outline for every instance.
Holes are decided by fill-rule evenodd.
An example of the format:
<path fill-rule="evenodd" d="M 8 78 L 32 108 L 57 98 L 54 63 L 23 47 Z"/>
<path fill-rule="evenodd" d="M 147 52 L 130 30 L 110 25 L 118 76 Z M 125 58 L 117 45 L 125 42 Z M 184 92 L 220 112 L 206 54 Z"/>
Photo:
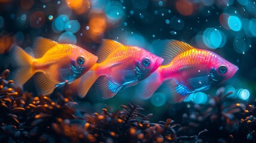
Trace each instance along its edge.
<path fill-rule="evenodd" d="M 101 63 L 106 59 L 106 57 L 111 54 L 115 49 L 123 46 L 122 43 L 113 41 L 111 39 L 103 39 L 100 48 L 98 49 L 96 55 L 98 56 L 97 63 Z"/>

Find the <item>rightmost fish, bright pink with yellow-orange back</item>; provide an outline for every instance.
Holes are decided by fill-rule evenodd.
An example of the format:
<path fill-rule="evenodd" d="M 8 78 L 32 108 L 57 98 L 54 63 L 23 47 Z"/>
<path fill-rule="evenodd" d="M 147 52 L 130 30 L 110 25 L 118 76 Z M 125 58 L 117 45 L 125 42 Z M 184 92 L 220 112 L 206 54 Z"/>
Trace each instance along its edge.
<path fill-rule="evenodd" d="M 238 70 L 214 52 L 196 49 L 181 41 L 163 43 L 161 57 L 165 59 L 164 65 L 138 85 L 137 95 L 143 98 L 150 98 L 165 82 L 163 91 L 171 91 L 174 100 L 180 102 L 193 92 L 205 91 L 230 79 Z"/>

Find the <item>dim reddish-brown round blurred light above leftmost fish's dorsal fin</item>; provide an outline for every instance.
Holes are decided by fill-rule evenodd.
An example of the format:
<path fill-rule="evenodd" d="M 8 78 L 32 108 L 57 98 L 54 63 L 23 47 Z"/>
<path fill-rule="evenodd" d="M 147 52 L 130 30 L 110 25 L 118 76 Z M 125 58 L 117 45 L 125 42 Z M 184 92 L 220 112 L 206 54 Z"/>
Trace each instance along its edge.
<path fill-rule="evenodd" d="M 29 24 L 31 27 L 38 29 L 45 22 L 45 14 L 42 11 L 35 11 L 30 15 Z"/>

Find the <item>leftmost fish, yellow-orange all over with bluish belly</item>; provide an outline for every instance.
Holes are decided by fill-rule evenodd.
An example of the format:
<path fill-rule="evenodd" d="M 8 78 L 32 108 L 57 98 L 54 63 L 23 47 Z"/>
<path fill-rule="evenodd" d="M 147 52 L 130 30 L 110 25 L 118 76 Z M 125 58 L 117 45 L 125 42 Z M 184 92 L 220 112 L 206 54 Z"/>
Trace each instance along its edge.
<path fill-rule="evenodd" d="M 16 46 L 11 54 L 18 70 L 13 79 L 22 86 L 35 74 L 35 86 L 39 94 L 48 95 L 54 88 L 81 77 L 96 63 L 98 57 L 85 49 L 60 44 L 46 38 L 36 38 L 33 51 L 35 58 Z"/>

